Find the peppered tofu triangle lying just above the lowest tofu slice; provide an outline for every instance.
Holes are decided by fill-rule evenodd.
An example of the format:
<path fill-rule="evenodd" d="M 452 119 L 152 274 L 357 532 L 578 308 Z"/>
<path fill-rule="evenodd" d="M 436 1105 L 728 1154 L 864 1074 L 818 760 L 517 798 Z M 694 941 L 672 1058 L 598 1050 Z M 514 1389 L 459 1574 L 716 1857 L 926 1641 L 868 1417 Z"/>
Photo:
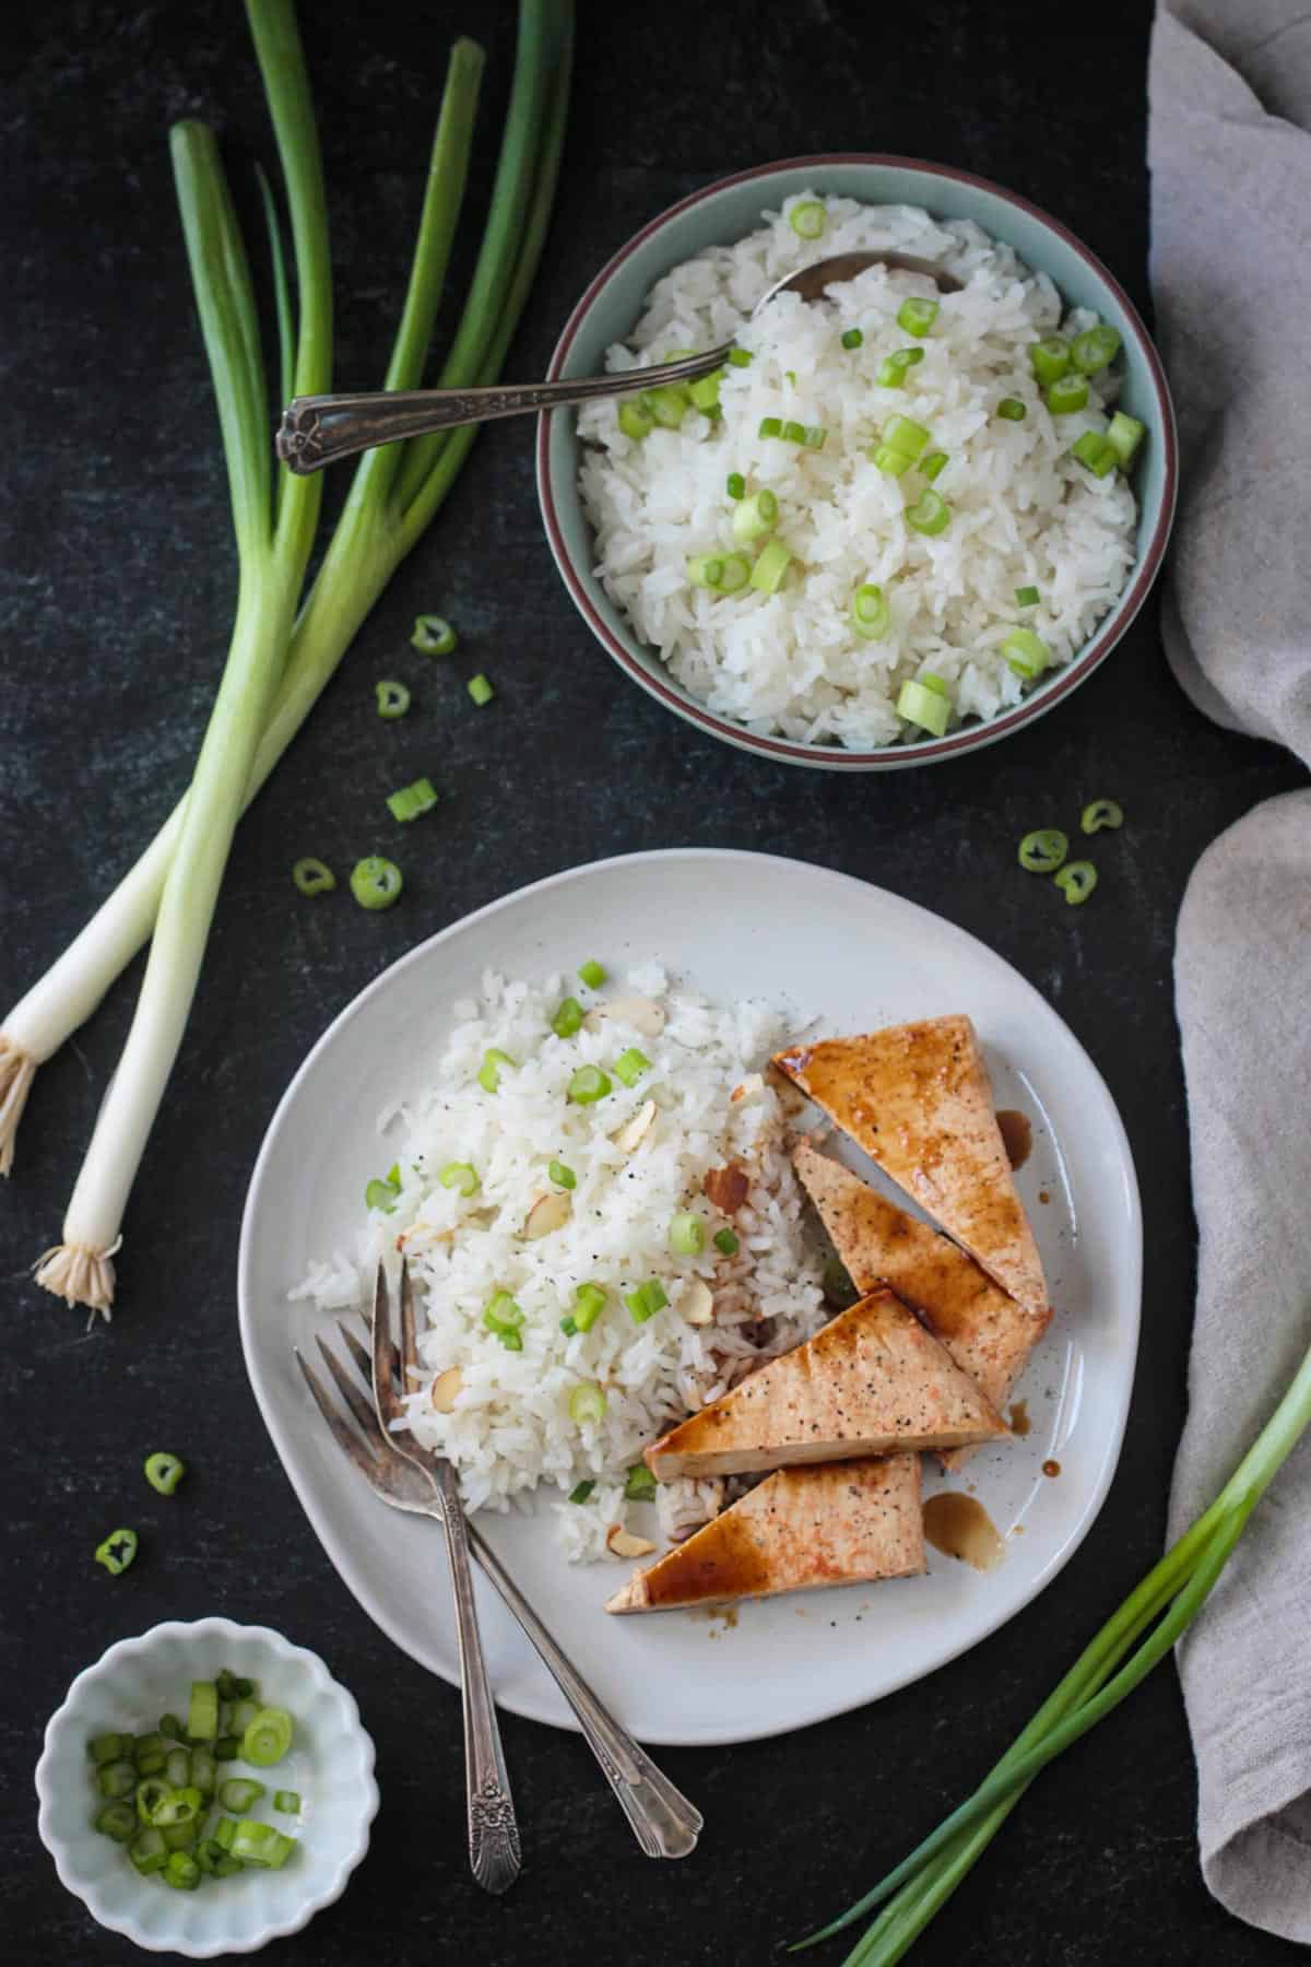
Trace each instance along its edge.
<path fill-rule="evenodd" d="M 770 1359 L 647 1450 L 656 1481 L 751 1475 L 1006 1434 L 969 1375 L 890 1290 Z"/>

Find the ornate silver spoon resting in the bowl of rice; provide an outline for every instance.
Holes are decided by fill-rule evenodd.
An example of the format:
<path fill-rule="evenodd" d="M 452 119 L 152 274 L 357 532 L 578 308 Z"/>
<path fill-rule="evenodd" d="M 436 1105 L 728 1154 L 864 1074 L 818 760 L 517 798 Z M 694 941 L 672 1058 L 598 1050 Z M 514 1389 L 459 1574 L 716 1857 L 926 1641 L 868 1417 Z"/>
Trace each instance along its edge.
<path fill-rule="evenodd" d="M 751 309 L 759 315 L 778 293 L 800 293 L 818 301 L 826 287 L 855 279 L 871 266 L 886 266 L 896 273 L 924 273 L 938 281 L 943 293 L 957 293 L 961 281 L 932 260 L 916 260 L 904 252 L 843 252 L 816 260 L 798 273 L 774 281 Z M 658 368 L 625 370 L 617 376 L 578 376 L 572 382 L 495 384 L 489 389 L 373 389 L 364 395 L 299 395 L 283 411 L 277 429 L 277 454 L 289 470 L 307 476 L 350 458 L 375 445 L 395 445 L 405 437 L 427 437 L 458 423 L 489 423 L 493 417 L 519 417 L 523 411 L 556 409 L 562 403 L 586 403 L 596 395 L 631 395 L 635 389 L 658 389 L 668 382 L 694 382 L 727 362 L 731 342 L 710 348 L 682 362 L 662 362 Z"/>

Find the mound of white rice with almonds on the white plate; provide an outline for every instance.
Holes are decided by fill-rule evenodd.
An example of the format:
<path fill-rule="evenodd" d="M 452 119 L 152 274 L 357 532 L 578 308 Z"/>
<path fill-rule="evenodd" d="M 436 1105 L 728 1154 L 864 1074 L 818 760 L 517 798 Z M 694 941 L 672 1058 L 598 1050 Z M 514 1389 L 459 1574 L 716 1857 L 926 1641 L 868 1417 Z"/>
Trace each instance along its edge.
<path fill-rule="evenodd" d="M 397 1168 L 391 1210 L 370 1212 L 358 1249 L 316 1263 L 293 1296 L 322 1310 L 362 1302 L 373 1265 L 395 1265 L 399 1243 L 428 1316 L 428 1373 L 409 1402 L 417 1436 L 454 1460 L 470 1509 L 505 1509 L 539 1483 L 554 1485 L 568 1556 L 590 1560 L 605 1556 L 609 1526 L 633 1511 L 623 1483 L 643 1448 L 761 1359 L 800 1343 L 826 1312 L 784 1111 L 761 1074 L 788 1035 L 780 1013 L 712 1005 L 647 968 L 596 995 L 580 991 L 607 1015 L 560 1039 L 552 1019 L 570 991 L 580 987 L 564 978 L 531 985 L 487 974 L 480 1001 L 456 1005 L 430 1084 L 389 1117 L 379 1159 Z M 515 1060 L 499 1068 L 495 1092 L 480 1084 L 489 1050 Z M 647 1060 L 633 1086 L 617 1070 L 625 1052 Z M 611 1082 L 596 1103 L 568 1098 L 580 1066 Z M 442 1184 L 452 1162 L 474 1168 L 472 1194 Z M 572 1188 L 550 1178 L 552 1162 L 572 1170 Z M 729 1162 L 749 1180 L 731 1218 L 704 1194 L 706 1174 Z M 525 1237 L 542 1196 L 566 1198 L 566 1220 Z M 552 1208 L 564 1214 L 564 1200 Z M 670 1251 L 670 1222 L 684 1212 L 704 1220 L 700 1255 Z M 713 1233 L 729 1222 L 739 1249 L 723 1255 Z M 668 1306 L 637 1324 L 623 1300 L 649 1281 Z M 570 1336 L 560 1320 L 588 1282 L 607 1292 L 607 1306 L 592 1330 Z M 521 1349 L 484 1322 L 499 1290 L 523 1312 Z M 708 1302 L 712 1322 L 692 1322 Z M 460 1391 L 442 1414 L 432 1379 L 450 1367 Z M 599 1422 L 570 1418 L 582 1383 L 605 1393 Z M 584 1481 L 596 1485 L 592 1495 L 570 1503 Z M 660 1495 L 660 1528 L 688 1534 L 721 1501 L 719 1483 L 672 1483 Z M 639 1520 L 655 1528 L 656 1513 L 645 1507 Z"/>

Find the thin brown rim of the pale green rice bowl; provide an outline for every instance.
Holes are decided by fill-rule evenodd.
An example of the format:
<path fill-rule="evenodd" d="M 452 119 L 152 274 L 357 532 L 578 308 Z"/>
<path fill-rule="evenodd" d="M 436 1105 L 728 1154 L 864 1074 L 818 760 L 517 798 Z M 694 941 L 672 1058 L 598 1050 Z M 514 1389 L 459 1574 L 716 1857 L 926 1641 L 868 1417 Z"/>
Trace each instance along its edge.
<path fill-rule="evenodd" d="M 1022 199 L 1016 191 L 1006 191 L 1002 185 L 993 183 L 991 177 L 979 177 L 975 171 L 957 171 L 949 163 L 924 163 L 922 159 L 916 157 L 892 157 L 884 155 L 883 151 L 839 149 L 839 151 L 822 151 L 814 157 L 780 157 L 774 163 L 759 163 L 749 171 L 735 171 L 731 177 L 719 177 L 715 179 L 713 185 L 704 185 L 700 191 L 688 193 L 688 197 L 680 199 L 676 205 L 666 207 L 666 210 L 651 218 L 641 228 L 641 232 L 635 232 L 633 238 L 605 262 L 601 271 L 586 287 L 582 299 L 578 301 L 572 315 L 564 323 L 560 340 L 556 342 L 554 352 L 550 356 L 550 366 L 546 370 L 548 382 L 554 382 L 564 372 L 568 352 L 574 346 L 574 336 L 578 334 L 582 319 L 596 301 L 601 287 L 605 287 L 615 269 L 623 266 L 623 262 L 633 252 L 637 252 L 639 246 L 643 246 L 649 238 L 653 238 L 653 234 L 660 232 L 662 226 L 670 224 L 670 220 L 678 218 L 694 205 L 700 205 L 704 199 L 713 197 L 717 191 L 727 191 L 729 185 L 743 185 L 749 183 L 751 179 L 774 177 L 780 171 L 824 169 L 833 163 L 873 163 L 873 165 L 883 165 L 884 169 L 890 167 L 898 171 L 916 171 L 918 175 L 928 179 L 949 177 L 955 179 L 955 183 L 975 185 L 981 191 L 989 191 L 995 197 L 1002 199 L 1006 205 L 1014 205 L 1018 210 L 1030 212 L 1044 226 L 1050 226 L 1050 230 L 1055 232 L 1061 240 L 1065 240 L 1065 244 L 1073 252 L 1077 252 L 1081 260 L 1087 262 L 1087 266 L 1097 273 L 1097 277 L 1105 281 L 1105 285 L 1111 289 L 1111 293 L 1124 309 L 1124 315 L 1128 317 L 1134 332 L 1138 334 L 1148 364 L 1148 374 L 1152 378 L 1152 387 L 1156 391 L 1160 407 L 1162 437 L 1166 447 L 1166 486 L 1162 492 L 1162 509 L 1152 529 L 1148 549 L 1142 555 L 1142 565 L 1138 566 L 1138 572 L 1134 574 L 1134 580 L 1130 582 L 1128 594 L 1124 598 L 1124 612 L 1114 629 L 1101 629 L 1093 637 L 1089 647 L 1083 651 L 1083 655 L 1077 657 L 1077 661 L 1069 663 L 1067 669 L 1059 671 L 1052 679 L 1052 683 L 1048 683 L 1040 692 L 1028 696 L 1022 704 L 1016 704 L 1014 710 L 1002 712 L 1002 716 L 989 718 L 985 724 L 983 722 L 971 724 L 967 730 L 953 732 L 951 738 L 938 738 L 934 742 L 916 742 L 910 745 L 879 745 L 873 751 L 853 751 L 845 745 L 804 744 L 802 740 L 796 738 L 765 738 L 759 732 L 749 730 L 745 724 L 735 724 L 729 718 L 717 716 L 713 710 L 708 710 L 706 704 L 698 702 L 696 696 L 678 690 L 672 683 L 666 683 L 658 675 L 651 675 L 641 667 L 641 663 L 633 659 L 629 649 L 625 649 L 619 637 L 611 631 L 609 624 L 594 608 L 592 596 L 578 578 L 574 563 L 564 545 L 554 494 L 550 490 L 550 419 L 552 415 L 568 415 L 568 411 L 542 411 L 537 427 L 537 496 L 542 507 L 542 519 L 546 523 L 546 539 L 550 543 L 554 563 L 560 568 L 560 578 L 564 580 L 564 586 L 568 588 L 574 606 L 582 614 L 592 633 L 598 637 L 599 643 L 603 643 L 605 649 L 609 649 L 609 653 L 615 657 L 621 669 L 625 669 L 627 675 L 637 685 L 641 685 L 641 688 L 647 690 L 651 696 L 656 696 L 660 702 L 668 704 L 680 716 L 692 718 L 694 724 L 704 726 L 706 730 L 713 732 L 719 738 L 729 740 L 731 744 L 747 745 L 749 749 L 765 751 L 769 757 L 788 759 L 790 763 L 798 765 L 827 765 L 847 771 L 867 771 L 871 765 L 883 765 L 883 763 L 890 765 L 898 763 L 902 757 L 908 765 L 934 763 L 936 759 L 951 757 L 955 751 L 969 751 L 975 749 L 977 745 L 993 744 L 997 738 L 1004 738 L 1006 732 L 1018 730 L 1020 724 L 1028 724 L 1030 718 L 1050 710 L 1052 704 L 1059 702 L 1061 696 L 1067 696 L 1069 690 L 1073 690 L 1079 683 L 1083 683 L 1083 679 L 1093 669 L 1097 669 L 1097 665 L 1105 661 L 1107 655 L 1111 655 L 1114 643 L 1130 627 L 1144 600 L 1148 598 L 1156 574 L 1160 572 L 1160 565 L 1166 553 L 1166 541 L 1169 539 L 1169 527 L 1173 521 L 1179 460 L 1177 460 L 1173 403 L 1169 399 L 1169 384 L 1166 382 L 1166 370 L 1162 366 L 1162 358 L 1156 352 L 1152 336 L 1148 334 L 1138 309 L 1124 293 L 1124 287 L 1118 283 L 1114 273 L 1111 273 L 1109 268 L 1103 266 L 1097 254 L 1089 252 L 1089 248 L 1079 238 L 1075 238 L 1075 234 L 1067 226 L 1063 226 L 1059 218 L 1054 218 L 1050 212 L 1046 212 L 1040 205 L 1034 205 L 1030 199 Z M 926 203 L 932 205 L 932 201 Z"/>

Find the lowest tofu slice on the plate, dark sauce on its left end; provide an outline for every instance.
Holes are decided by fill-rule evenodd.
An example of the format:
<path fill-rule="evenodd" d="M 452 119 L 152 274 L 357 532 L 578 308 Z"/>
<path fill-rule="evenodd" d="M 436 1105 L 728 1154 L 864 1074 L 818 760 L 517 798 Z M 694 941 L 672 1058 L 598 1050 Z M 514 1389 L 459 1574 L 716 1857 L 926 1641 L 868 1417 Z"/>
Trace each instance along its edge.
<path fill-rule="evenodd" d="M 778 1469 L 633 1578 L 605 1611 L 676 1611 L 924 1570 L 920 1458 Z"/>

